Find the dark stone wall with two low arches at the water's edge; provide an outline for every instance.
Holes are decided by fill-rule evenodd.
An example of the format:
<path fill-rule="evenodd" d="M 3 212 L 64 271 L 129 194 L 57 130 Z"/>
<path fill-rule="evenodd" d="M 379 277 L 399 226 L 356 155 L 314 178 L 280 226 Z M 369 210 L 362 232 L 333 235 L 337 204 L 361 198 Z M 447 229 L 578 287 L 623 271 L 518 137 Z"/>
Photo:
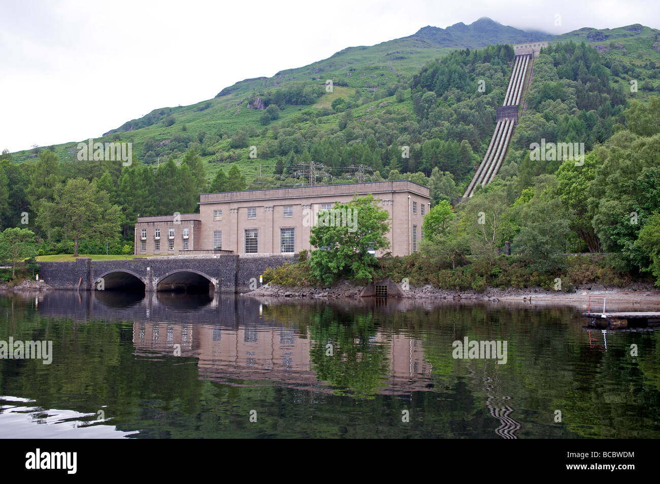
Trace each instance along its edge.
<path fill-rule="evenodd" d="M 295 256 L 160 256 L 135 259 L 40 262 L 39 278 L 54 289 L 98 291 L 209 291 L 240 293 L 257 287 L 269 267 Z M 252 283 L 252 285 L 251 285 Z"/>

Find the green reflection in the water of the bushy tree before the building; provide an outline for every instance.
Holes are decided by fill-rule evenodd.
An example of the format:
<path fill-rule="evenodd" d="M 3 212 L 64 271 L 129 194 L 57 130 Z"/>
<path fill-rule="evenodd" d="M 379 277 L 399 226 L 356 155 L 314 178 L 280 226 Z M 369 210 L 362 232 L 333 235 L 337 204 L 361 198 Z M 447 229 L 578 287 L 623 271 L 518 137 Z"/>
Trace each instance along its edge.
<path fill-rule="evenodd" d="M 335 394 L 373 398 L 387 380 L 387 345 L 376 341 L 378 328 L 372 314 L 354 314 L 352 321 L 337 318 L 326 308 L 310 325 L 311 359 L 319 380 L 337 387 Z M 327 355 L 332 345 L 332 356 Z"/>

